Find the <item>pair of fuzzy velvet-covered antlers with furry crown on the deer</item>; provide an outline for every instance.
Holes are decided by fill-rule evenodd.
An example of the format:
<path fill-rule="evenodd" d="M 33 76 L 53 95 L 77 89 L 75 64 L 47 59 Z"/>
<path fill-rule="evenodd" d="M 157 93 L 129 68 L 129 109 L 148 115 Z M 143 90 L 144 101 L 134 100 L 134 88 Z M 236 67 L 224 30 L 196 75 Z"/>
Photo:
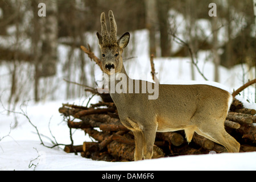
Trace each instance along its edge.
<path fill-rule="evenodd" d="M 105 13 L 101 13 L 101 34 L 102 40 L 100 44 L 102 46 L 117 46 L 117 23 L 115 22 L 114 14 L 112 10 L 109 10 L 109 21 L 110 21 L 110 34 L 106 26 Z M 100 35 L 97 34 L 99 37 Z"/>

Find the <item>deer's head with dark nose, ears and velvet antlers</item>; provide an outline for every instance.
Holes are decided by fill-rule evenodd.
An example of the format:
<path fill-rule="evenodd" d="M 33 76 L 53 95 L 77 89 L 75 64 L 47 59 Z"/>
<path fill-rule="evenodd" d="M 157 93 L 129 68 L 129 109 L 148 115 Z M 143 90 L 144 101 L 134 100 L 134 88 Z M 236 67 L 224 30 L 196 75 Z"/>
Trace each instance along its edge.
<path fill-rule="evenodd" d="M 101 34 L 97 32 L 98 43 L 101 48 L 102 68 L 110 75 L 111 69 L 115 73 L 121 72 L 123 68 L 122 52 L 130 39 L 129 32 L 126 32 L 117 40 L 117 23 L 113 11 L 109 11 L 110 32 L 106 26 L 105 13 L 101 13 Z"/>

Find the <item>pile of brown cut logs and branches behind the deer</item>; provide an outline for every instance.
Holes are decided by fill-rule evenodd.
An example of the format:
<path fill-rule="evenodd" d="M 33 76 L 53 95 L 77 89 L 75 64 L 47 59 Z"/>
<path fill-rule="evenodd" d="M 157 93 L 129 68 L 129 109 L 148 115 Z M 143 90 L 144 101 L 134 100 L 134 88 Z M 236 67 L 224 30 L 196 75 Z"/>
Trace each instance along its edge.
<path fill-rule="evenodd" d="M 101 60 L 90 51 L 90 48 L 86 49 L 83 46 L 81 48 L 101 68 Z M 154 67 L 152 60 L 151 67 Z M 152 73 L 154 73 L 153 69 Z M 233 97 L 247 86 L 255 84 L 255 82 L 256 79 L 250 81 L 249 84 L 241 86 L 241 88 L 233 93 Z M 94 141 L 84 142 L 80 146 L 67 145 L 64 151 L 79 152 L 81 156 L 93 160 L 109 162 L 133 161 L 135 149 L 134 135 L 120 122 L 117 108 L 110 95 L 105 93 L 99 94 L 97 89 L 90 87 L 86 88 L 85 91 L 98 94 L 102 101 L 92 104 L 90 107 L 63 104 L 59 108 L 59 112 L 64 115 L 64 120 L 67 121 L 70 129 L 84 130 L 85 134 L 88 134 Z M 243 107 L 243 104 L 234 98 L 224 125 L 226 131 L 241 144 L 240 152 L 256 151 L 255 114 L 256 110 Z M 221 152 L 226 152 L 225 147 L 196 133 L 193 135 L 191 143 L 188 144 L 184 131 L 181 130 L 156 133 L 152 158 Z"/>

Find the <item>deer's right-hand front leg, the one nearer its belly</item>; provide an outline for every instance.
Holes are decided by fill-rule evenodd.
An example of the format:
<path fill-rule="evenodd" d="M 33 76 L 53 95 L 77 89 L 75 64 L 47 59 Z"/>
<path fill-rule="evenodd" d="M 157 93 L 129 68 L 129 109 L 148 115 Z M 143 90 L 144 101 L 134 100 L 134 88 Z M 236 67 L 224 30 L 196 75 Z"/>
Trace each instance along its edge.
<path fill-rule="evenodd" d="M 151 159 L 153 155 L 153 146 L 155 143 L 156 126 L 150 126 L 148 129 L 143 130 L 144 138 L 144 159 Z"/>

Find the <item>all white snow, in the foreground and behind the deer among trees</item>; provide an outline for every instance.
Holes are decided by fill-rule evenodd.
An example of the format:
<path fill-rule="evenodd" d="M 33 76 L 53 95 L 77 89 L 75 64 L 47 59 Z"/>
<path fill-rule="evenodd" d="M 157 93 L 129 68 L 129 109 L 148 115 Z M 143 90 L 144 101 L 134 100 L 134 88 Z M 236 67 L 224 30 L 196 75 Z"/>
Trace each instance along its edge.
<path fill-rule="evenodd" d="M 134 33 L 134 36 L 138 38 L 135 55 L 140 56 L 125 61 L 124 64 L 126 71 L 132 78 L 138 78 L 144 74 L 146 80 L 152 81 L 150 59 L 145 53 L 147 46 L 142 44 L 147 34 L 146 31 Z M 67 48 L 60 46 L 59 51 L 65 52 L 60 58 L 65 59 Z M 198 65 L 204 75 L 209 80 L 213 80 L 214 65 L 212 61 L 208 60 L 208 57 L 208 52 L 199 53 Z M 246 65 L 237 65 L 229 70 L 220 67 L 219 84 L 212 81 L 205 82 L 196 70 L 196 81 L 191 81 L 191 60 L 189 58 L 156 58 L 154 63 L 161 84 L 210 84 L 229 92 L 233 92 L 233 89 L 237 89 L 243 84 L 243 76 L 244 80 L 248 80 L 249 75 L 253 75 L 255 72 L 254 68 L 251 69 L 250 74 L 245 74 L 242 70 L 246 68 Z M 7 89 L 8 71 L 5 67 L 6 65 L 0 67 L 0 76 L 4 76 L 1 79 L 2 85 L 0 84 L 2 86 L 1 93 Z M 96 77 L 101 76 L 101 72 L 96 71 L 95 74 Z M 62 80 L 63 77 L 63 75 L 57 76 L 59 80 Z M 26 101 L 16 106 L 15 111 L 24 111 L 30 121 L 38 128 L 43 142 L 47 146 L 52 146 L 51 140 L 54 140 L 52 136 L 55 137 L 57 143 L 71 143 L 67 122 L 63 121 L 63 116 L 58 111 L 59 107 L 67 102 L 77 105 L 86 105 L 88 102 L 89 97 L 63 100 L 60 93 L 64 93 L 64 89 L 65 86 L 60 84 L 60 87 L 55 90 L 55 94 L 59 96 L 56 97 L 57 100 L 55 101 L 46 100 L 39 104 Z M 250 86 L 242 96 L 237 96 L 237 98 L 246 107 L 256 109 L 256 104 L 253 104 L 254 92 L 255 89 Z M 1 100 L 6 100 L 6 98 L 1 98 Z M 99 97 L 95 96 L 90 103 L 96 103 L 98 100 Z M 249 100 L 250 103 L 246 100 Z M 22 114 L 8 114 L 3 106 L 7 106 L 6 102 L 3 105 L 0 104 L 0 170 L 256 170 L 256 152 L 173 156 L 139 162 L 102 162 L 82 158 L 79 155 L 65 153 L 61 146 L 55 148 L 43 146 L 40 144 L 35 128 L 28 122 L 28 119 Z M 82 144 L 84 141 L 92 141 L 81 130 L 72 130 L 72 137 L 75 145 Z"/>

